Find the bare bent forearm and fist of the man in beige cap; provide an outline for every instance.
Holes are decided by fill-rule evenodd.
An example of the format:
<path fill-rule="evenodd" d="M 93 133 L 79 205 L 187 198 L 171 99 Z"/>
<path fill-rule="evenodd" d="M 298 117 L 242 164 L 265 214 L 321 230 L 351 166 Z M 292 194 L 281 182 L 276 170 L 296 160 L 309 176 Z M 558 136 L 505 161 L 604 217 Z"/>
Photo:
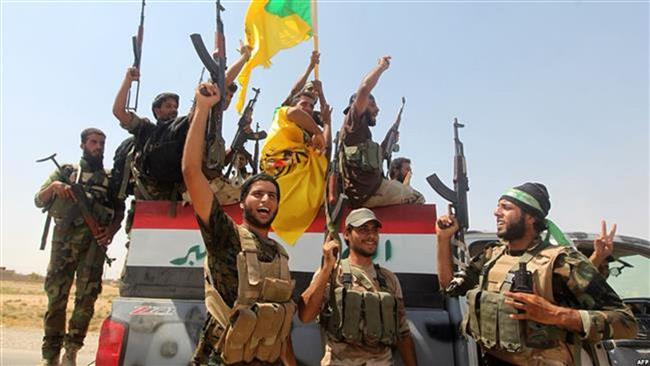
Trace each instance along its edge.
<path fill-rule="evenodd" d="M 323 244 L 323 265 L 314 280 L 309 284 L 309 287 L 300 295 L 298 301 L 298 318 L 303 323 L 310 323 L 320 313 L 327 282 L 336 264 L 334 253 L 338 250 L 338 247 L 338 243 L 334 240 L 329 240 Z"/>

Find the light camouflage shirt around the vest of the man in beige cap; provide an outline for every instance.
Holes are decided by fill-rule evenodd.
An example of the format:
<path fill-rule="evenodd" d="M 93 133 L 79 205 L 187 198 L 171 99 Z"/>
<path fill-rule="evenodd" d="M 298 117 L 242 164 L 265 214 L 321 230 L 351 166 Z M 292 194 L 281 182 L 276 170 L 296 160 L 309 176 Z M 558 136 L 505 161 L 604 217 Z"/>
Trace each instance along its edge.
<path fill-rule="evenodd" d="M 368 267 L 360 267 L 354 264 L 352 266 L 361 269 L 366 274 L 366 277 L 372 279 L 372 283 L 375 288 L 379 289 L 379 281 L 377 279 L 377 271 L 375 267 L 370 265 Z M 404 299 L 402 295 L 402 287 L 400 286 L 399 279 L 397 276 L 384 267 L 380 267 L 381 274 L 386 280 L 386 287 L 388 292 L 393 294 L 397 299 L 397 317 L 398 317 L 398 330 L 400 337 L 410 334 L 408 321 L 406 319 L 406 310 L 404 307 Z M 320 270 L 319 270 L 320 271 Z M 314 274 L 314 279 L 318 275 L 318 272 Z M 343 286 L 342 282 L 343 270 L 341 267 L 337 267 L 337 286 Z M 313 281 L 313 279 L 312 279 Z M 356 278 L 353 276 L 352 288 L 360 291 L 366 291 L 363 286 L 361 286 Z M 329 301 L 329 283 L 325 288 L 325 296 L 323 297 L 323 308 L 327 306 Z M 326 333 L 327 334 L 327 333 Z M 327 343 L 325 345 L 325 355 L 321 361 L 321 365 L 392 365 L 393 364 L 393 355 L 391 348 L 388 346 L 377 345 L 374 347 L 370 346 L 360 346 L 353 345 L 345 342 L 339 342 L 334 339 L 332 336 L 327 334 Z"/>

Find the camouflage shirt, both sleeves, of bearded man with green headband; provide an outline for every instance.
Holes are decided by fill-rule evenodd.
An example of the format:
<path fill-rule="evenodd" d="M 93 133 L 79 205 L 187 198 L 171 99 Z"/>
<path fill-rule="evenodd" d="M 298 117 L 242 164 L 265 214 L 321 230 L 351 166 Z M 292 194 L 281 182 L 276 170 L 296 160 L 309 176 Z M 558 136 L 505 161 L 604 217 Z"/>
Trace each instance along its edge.
<path fill-rule="evenodd" d="M 536 239 L 536 242 L 528 248 L 529 251 L 541 240 Z M 472 258 L 464 271 L 456 274 L 454 281 L 443 292 L 449 296 L 463 296 L 477 287 L 481 270 L 493 258 L 495 249 L 502 245 L 505 243 L 487 245 L 481 254 Z M 583 327 L 579 338 L 582 341 L 595 343 L 603 339 L 636 336 L 634 315 L 587 257 L 572 247 L 566 247 L 552 265 L 553 297 L 557 305 L 579 310 Z"/>

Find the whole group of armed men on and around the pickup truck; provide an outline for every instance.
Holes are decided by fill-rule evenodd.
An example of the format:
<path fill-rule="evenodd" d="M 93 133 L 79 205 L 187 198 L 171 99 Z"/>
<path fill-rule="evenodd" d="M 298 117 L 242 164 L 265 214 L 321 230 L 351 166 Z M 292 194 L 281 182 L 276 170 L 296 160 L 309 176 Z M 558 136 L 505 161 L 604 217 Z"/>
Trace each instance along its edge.
<path fill-rule="evenodd" d="M 101 292 L 105 247 L 121 225 L 128 193 L 138 200 L 171 201 L 183 199 L 185 193 L 192 202 L 207 250 L 207 319 L 192 364 L 295 365 L 291 323 L 296 312 L 304 323 L 317 319 L 324 331 L 322 365 L 391 365 L 393 348 L 404 364 L 417 364 L 399 280 L 372 259 L 382 222 L 369 207 L 424 203 L 409 185 L 410 161 L 395 159 L 385 178 L 382 147 L 372 140 L 370 127 L 379 108 L 371 91 L 388 70 L 390 57 L 381 57 L 363 78 L 344 110 L 340 129 L 339 170 L 352 208 L 343 227 L 349 256 L 341 259 L 338 235 L 327 235 L 321 265 L 296 304 L 289 257 L 269 236 L 285 194 L 277 177 L 263 164 L 259 174 L 242 170 L 250 154 L 230 157 L 244 172 L 236 181 L 210 176 L 204 166 L 210 111 L 222 98 L 228 107 L 237 89 L 235 77 L 250 57 L 247 47 L 240 52 L 241 58 L 226 74 L 226 95 L 212 83 L 201 83 L 189 114 L 178 117 L 178 95 L 160 94 L 152 106 L 156 123 L 124 107 L 131 82 L 139 78 L 139 71 L 129 68 L 113 108 L 120 125 L 133 135 L 126 167 L 122 172 L 116 172 L 119 166 L 113 172 L 103 168 L 105 135 L 89 128 L 81 134 L 79 164 L 63 165 L 37 193 L 36 205 L 48 207 L 56 223 L 45 281 L 48 308 L 42 364 L 75 364 Z M 329 155 L 331 107 L 322 84 L 307 82 L 318 59 L 318 53 L 312 54 L 282 108 L 288 123 L 303 132 L 306 148 Z M 316 103 L 320 113 L 314 113 Z M 159 135 L 173 138 L 161 144 L 154 137 Z M 165 165 L 177 180 L 148 174 L 161 164 L 152 161 L 155 155 L 150 152 L 156 149 L 180 152 L 177 164 Z M 86 193 L 99 229 L 91 231 L 86 225 L 72 192 L 74 184 Z M 223 209 L 233 203 L 242 209 L 241 224 Z M 469 310 L 462 330 L 477 341 L 488 364 L 580 364 L 584 347 L 636 335 L 633 314 L 597 269 L 612 252 L 615 228 L 608 233 L 602 224 L 594 254 L 587 259 L 570 246 L 542 238 L 549 209 L 549 194 L 542 184 L 525 183 L 506 191 L 494 212 L 500 240 L 459 272 L 452 270 L 451 254 L 458 223 L 452 215 L 436 223 L 439 287 L 444 295 L 467 296 Z M 91 250 L 94 247 L 98 250 Z M 532 273 L 531 293 L 511 291 L 512 273 L 522 264 Z M 75 306 L 66 332 L 65 309 L 75 272 Z"/>

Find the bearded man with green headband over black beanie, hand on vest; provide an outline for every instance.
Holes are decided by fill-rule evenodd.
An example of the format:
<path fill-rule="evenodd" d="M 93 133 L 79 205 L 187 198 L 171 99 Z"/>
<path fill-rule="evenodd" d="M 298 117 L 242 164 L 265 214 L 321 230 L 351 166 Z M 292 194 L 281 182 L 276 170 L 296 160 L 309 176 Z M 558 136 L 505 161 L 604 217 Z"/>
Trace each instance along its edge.
<path fill-rule="evenodd" d="M 455 277 L 450 242 L 458 224 L 453 216 L 438 220 L 440 287 L 467 296 L 463 331 L 476 339 L 487 364 L 579 365 L 583 345 L 636 336 L 631 311 L 545 219 L 550 207 L 540 183 L 508 190 L 494 211 L 501 240 Z M 563 245 L 550 244 L 549 235 L 542 239 L 544 230 Z M 611 241 L 613 234 L 603 230 L 597 240 Z"/>

